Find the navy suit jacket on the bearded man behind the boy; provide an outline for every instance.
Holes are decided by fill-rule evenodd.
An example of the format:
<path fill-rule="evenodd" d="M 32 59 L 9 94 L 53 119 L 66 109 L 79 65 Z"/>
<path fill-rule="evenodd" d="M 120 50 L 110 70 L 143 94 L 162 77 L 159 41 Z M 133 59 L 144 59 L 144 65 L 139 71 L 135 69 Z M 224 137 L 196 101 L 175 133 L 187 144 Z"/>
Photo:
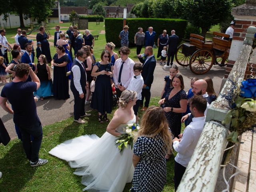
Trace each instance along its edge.
<path fill-rule="evenodd" d="M 146 58 L 139 58 L 140 62 L 143 64 L 141 76 L 143 77 L 144 84 L 147 86 L 151 86 L 154 80 L 154 70 L 156 68 L 156 58 L 152 56 L 149 60 L 146 61 Z"/>

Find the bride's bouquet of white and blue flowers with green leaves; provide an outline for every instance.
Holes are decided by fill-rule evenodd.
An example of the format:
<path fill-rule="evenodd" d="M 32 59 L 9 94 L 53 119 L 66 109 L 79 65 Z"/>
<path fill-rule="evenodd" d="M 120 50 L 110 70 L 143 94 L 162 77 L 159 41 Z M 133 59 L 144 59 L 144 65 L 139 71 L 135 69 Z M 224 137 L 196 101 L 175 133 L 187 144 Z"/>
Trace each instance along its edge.
<path fill-rule="evenodd" d="M 125 148 L 128 148 L 128 146 L 131 148 L 133 147 L 133 139 L 139 129 L 140 126 L 135 123 L 127 124 L 127 126 L 124 128 L 124 132 L 126 133 L 117 136 L 115 143 L 121 155 L 123 154 Z"/>

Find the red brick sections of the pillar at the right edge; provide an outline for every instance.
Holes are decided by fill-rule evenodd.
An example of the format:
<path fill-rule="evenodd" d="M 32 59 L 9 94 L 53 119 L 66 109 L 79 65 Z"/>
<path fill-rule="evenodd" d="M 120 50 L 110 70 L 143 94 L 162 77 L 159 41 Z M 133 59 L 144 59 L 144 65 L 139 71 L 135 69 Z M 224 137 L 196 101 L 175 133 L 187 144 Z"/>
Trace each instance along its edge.
<path fill-rule="evenodd" d="M 256 26 L 256 21 L 236 20 L 236 25 L 235 25 L 234 34 L 233 34 L 233 40 L 244 41 L 246 30 L 249 26 Z M 226 66 L 226 71 L 225 71 L 224 78 L 228 78 L 228 75 L 229 75 L 231 69 L 233 68 L 234 63 L 235 63 L 235 61 L 228 60 L 228 64 Z M 244 75 L 245 79 L 251 77 L 250 74 L 252 72 L 250 70 L 252 70 L 252 72 L 253 72 L 252 75 L 255 76 L 255 74 L 256 74 L 256 63 L 252 64 L 252 68 L 250 67 L 249 64 L 247 64 L 246 72 L 245 72 L 245 75 Z"/>

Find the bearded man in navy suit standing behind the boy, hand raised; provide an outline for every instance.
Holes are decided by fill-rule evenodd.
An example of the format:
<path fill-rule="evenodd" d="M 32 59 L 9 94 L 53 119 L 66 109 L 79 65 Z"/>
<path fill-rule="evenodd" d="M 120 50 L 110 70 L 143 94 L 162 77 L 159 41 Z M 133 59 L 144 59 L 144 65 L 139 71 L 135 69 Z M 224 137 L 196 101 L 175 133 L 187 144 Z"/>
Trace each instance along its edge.
<path fill-rule="evenodd" d="M 138 56 L 143 66 L 141 76 L 143 77 L 144 85 L 141 93 L 142 98 L 140 103 L 142 104 L 142 106 L 145 98 L 145 104 L 144 104 L 144 107 L 141 109 L 141 111 L 145 111 L 148 108 L 148 105 L 150 102 L 150 96 L 151 96 L 150 88 L 154 80 L 154 70 L 156 68 L 156 58 L 153 54 L 153 47 L 147 46 L 145 48 L 144 54 L 146 56 L 145 59 L 142 58 L 141 54 L 139 54 Z"/>

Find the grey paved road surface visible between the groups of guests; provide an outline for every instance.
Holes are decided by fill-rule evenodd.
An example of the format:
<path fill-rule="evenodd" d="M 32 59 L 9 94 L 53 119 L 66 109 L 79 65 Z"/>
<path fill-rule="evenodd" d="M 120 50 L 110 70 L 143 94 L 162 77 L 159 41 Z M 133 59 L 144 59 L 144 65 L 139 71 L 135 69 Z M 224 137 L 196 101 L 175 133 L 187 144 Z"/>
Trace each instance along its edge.
<path fill-rule="evenodd" d="M 159 61 L 158 61 L 159 62 Z M 174 62 L 175 64 L 175 62 Z M 178 64 L 177 64 L 178 65 Z M 179 66 L 179 65 L 178 65 Z M 180 74 L 184 78 L 185 91 L 187 92 L 190 88 L 190 79 L 196 75 L 190 72 L 189 66 L 182 67 L 179 66 Z M 216 93 L 219 93 L 222 78 L 225 73 L 225 67 L 213 66 L 210 71 L 204 75 L 197 75 L 197 77 L 204 78 L 206 76 L 212 78 L 214 82 L 214 89 Z M 151 96 L 160 96 L 161 91 L 164 86 L 164 76 L 169 74 L 169 68 L 164 68 L 163 66 L 156 64 L 156 69 L 154 71 L 154 82 L 151 87 Z M 4 84 L 0 83 L 0 91 L 2 90 Z M 64 120 L 73 115 L 73 105 L 74 97 L 70 90 L 70 98 L 67 100 L 54 100 L 54 98 L 45 99 L 43 101 L 38 100 L 36 103 L 38 116 L 42 122 L 42 125 L 52 124 Z M 87 105 L 87 109 L 89 109 Z M 4 125 L 10 134 L 12 139 L 16 138 L 16 132 L 14 128 L 14 122 L 12 120 L 13 115 L 8 114 L 2 108 L 0 108 L 0 117 L 4 122 Z"/>

